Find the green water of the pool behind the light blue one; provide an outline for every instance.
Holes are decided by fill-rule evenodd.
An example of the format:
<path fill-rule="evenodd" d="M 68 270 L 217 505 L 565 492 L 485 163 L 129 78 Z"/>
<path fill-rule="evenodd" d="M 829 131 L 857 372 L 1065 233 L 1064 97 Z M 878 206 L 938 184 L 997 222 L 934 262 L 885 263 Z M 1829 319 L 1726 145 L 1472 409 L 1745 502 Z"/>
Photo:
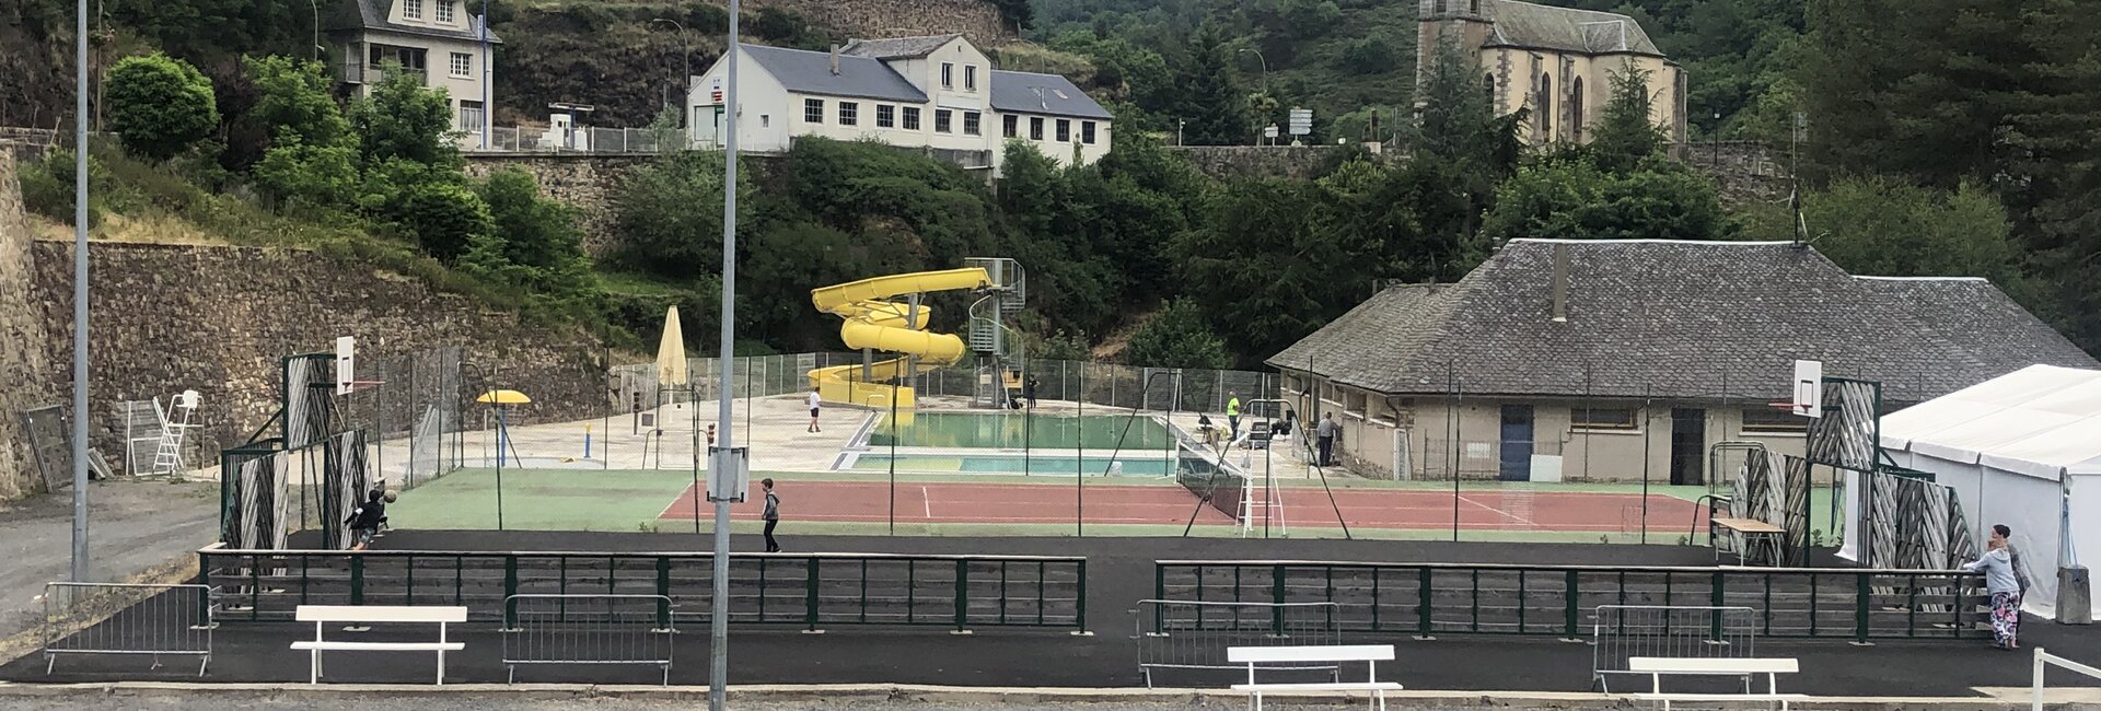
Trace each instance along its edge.
<path fill-rule="evenodd" d="M 1128 432 L 1126 432 L 1128 430 Z M 895 436 L 889 417 L 868 432 L 870 447 L 971 449 L 1170 449 L 1174 438 L 1158 419 L 1139 415 L 1025 415 L 1025 413 L 914 413 Z M 864 457 L 866 461 L 866 457 Z M 1069 464 L 1069 459 L 1067 459 Z M 1034 468 L 1034 464 L 1032 464 Z M 1002 470 L 1004 472 L 1004 470 Z M 1019 472 L 1019 468 L 1017 468 Z M 1160 472 L 1153 472 L 1160 474 Z"/>

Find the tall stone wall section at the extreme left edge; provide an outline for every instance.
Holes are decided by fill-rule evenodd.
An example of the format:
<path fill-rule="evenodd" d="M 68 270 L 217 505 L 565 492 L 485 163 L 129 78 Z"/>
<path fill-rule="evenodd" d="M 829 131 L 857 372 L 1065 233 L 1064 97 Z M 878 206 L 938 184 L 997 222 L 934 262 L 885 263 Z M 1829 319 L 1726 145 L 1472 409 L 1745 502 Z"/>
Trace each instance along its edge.
<path fill-rule="evenodd" d="M 21 214 L 21 187 L 15 180 L 15 153 L 0 151 L 0 501 L 38 489 L 36 459 L 21 411 L 59 405 L 59 380 L 71 359 L 48 359 L 44 315 L 32 304 L 29 222 Z M 67 268 L 67 283 L 71 271 Z M 71 308 L 71 298 L 61 308 Z"/>

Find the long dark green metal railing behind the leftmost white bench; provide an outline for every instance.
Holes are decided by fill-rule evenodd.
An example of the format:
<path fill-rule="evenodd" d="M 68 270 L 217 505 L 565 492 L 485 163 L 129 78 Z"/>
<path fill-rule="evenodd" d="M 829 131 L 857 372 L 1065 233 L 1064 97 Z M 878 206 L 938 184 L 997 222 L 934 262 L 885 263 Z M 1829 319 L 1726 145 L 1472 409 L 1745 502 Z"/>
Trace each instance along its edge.
<path fill-rule="evenodd" d="M 290 621 L 300 604 L 452 604 L 511 627 L 513 596 L 664 596 L 677 621 L 710 615 L 710 554 L 635 552 L 197 552 L 223 621 Z M 1086 558 L 735 554 L 737 625 L 1086 629 Z"/>

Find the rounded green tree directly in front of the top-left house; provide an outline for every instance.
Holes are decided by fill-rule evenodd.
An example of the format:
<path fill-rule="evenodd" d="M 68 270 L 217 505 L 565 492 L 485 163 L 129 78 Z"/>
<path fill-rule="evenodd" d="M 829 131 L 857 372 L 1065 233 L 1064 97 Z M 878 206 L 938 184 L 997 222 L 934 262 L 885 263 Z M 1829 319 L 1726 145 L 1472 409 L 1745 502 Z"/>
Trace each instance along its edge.
<path fill-rule="evenodd" d="M 462 166 L 460 151 L 448 138 L 452 99 L 441 88 L 424 88 L 420 76 L 387 71 L 370 99 L 351 105 L 351 128 L 359 138 L 359 161 L 368 170 L 389 159 Z"/>

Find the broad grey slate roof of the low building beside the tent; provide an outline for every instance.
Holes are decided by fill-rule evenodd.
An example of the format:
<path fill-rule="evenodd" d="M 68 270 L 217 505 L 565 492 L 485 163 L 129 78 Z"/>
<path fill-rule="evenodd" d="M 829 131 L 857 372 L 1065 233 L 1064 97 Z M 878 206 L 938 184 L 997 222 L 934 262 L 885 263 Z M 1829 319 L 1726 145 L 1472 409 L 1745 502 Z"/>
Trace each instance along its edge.
<path fill-rule="evenodd" d="M 1551 321 L 1567 247 L 1567 323 Z M 1452 285 L 1403 285 L 1269 359 L 1385 394 L 1788 398 L 1794 359 L 1916 403 L 2048 363 L 2101 367 L 1983 281 L 1847 275 L 1811 247 L 1513 239 Z"/>

